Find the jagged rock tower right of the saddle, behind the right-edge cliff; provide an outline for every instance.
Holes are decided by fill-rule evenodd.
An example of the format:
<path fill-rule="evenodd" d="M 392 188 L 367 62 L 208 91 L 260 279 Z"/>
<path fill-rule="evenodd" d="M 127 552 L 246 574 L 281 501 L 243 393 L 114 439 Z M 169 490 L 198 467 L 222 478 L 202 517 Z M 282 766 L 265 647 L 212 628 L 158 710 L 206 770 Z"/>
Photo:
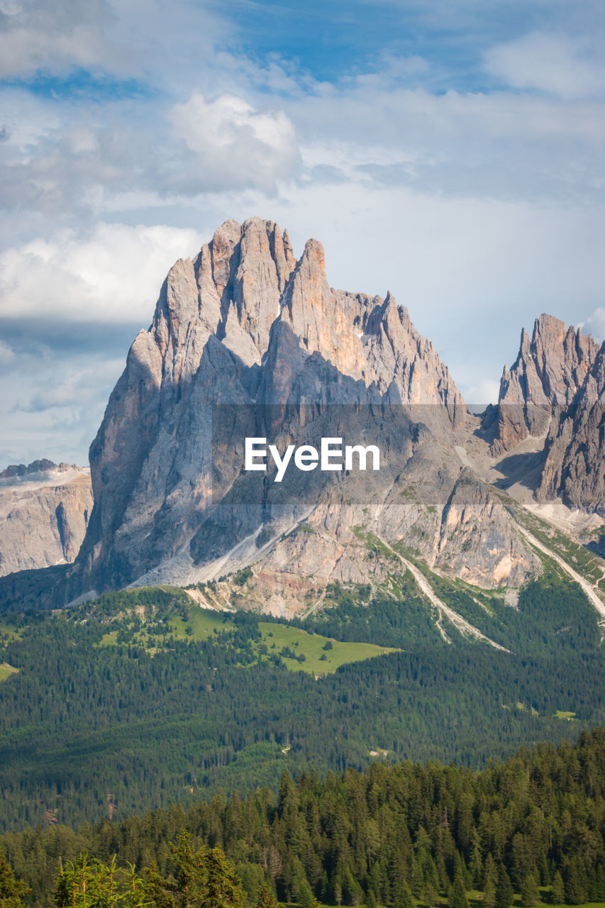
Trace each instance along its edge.
<path fill-rule="evenodd" d="M 523 329 L 517 359 L 501 377 L 495 452 L 545 435 L 553 410 L 569 405 L 584 387 L 598 351 L 590 335 L 551 315 L 536 319 L 531 339 Z"/>

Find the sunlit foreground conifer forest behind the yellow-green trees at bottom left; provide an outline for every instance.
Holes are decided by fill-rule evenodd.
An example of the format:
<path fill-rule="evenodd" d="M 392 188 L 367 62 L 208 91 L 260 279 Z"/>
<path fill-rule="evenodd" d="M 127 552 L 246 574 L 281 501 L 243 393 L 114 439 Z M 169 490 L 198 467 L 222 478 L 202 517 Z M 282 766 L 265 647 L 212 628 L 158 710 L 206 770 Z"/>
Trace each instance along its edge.
<path fill-rule="evenodd" d="M 282 775 L 277 796 L 215 795 L 187 810 L 172 806 L 75 832 L 66 826 L 5 834 L 0 849 L 31 888 L 52 903 L 59 858 L 83 852 L 108 865 L 174 871 L 171 843 L 185 831 L 233 863 L 248 900 L 263 884 L 280 901 L 431 906 L 463 904 L 478 889 L 486 908 L 512 893 L 531 908 L 538 887 L 552 903 L 605 901 L 605 729 L 577 745 L 521 749 L 483 770 L 404 762 L 361 773 Z"/>

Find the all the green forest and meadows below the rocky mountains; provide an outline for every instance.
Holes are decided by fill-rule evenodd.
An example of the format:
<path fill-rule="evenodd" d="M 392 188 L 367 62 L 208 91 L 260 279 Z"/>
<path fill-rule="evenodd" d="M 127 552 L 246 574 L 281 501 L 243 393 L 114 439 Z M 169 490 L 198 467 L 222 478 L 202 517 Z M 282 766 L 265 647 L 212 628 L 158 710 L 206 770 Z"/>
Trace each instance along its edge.
<path fill-rule="evenodd" d="M 3 908 L 605 902 L 581 593 L 494 607 L 508 650 L 362 594 L 294 623 L 169 587 L 2 617 Z"/>

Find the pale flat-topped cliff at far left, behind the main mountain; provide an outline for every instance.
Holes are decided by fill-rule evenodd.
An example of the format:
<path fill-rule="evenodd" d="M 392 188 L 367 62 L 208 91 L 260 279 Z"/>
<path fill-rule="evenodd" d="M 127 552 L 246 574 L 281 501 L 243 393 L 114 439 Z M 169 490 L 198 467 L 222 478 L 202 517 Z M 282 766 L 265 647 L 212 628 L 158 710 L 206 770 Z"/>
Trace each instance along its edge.
<path fill-rule="evenodd" d="M 93 509 L 87 470 L 50 460 L 0 473 L 0 577 L 74 561 Z"/>

